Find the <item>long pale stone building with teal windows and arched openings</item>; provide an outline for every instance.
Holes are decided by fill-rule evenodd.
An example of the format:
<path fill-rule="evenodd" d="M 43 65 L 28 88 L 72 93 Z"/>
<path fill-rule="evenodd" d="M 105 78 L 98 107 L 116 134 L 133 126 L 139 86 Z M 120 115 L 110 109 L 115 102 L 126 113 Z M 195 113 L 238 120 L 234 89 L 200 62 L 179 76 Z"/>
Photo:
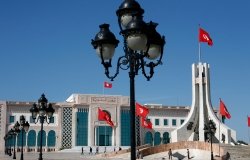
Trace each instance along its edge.
<path fill-rule="evenodd" d="M 41 124 L 32 119 L 30 108 L 35 102 L 0 101 L 0 137 L 13 128 L 21 115 L 30 123 L 24 133 L 24 151 L 39 151 Z M 153 129 L 143 128 L 137 118 L 137 144 L 159 145 L 171 141 L 170 132 L 180 126 L 189 113 L 187 106 L 145 104 Z M 114 127 L 98 120 L 98 108 L 111 115 Z M 55 113 L 49 124 L 44 123 L 43 151 L 58 151 L 78 146 L 130 146 L 129 97 L 117 95 L 72 94 L 65 102 L 53 103 Z M 5 146 L 21 148 L 21 134 Z"/>

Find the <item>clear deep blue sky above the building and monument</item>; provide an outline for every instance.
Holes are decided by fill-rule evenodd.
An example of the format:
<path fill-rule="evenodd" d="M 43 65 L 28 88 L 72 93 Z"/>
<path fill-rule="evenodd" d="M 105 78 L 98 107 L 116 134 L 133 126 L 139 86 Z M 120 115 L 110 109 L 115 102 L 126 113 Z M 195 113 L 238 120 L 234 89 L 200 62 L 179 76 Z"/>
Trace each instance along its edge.
<path fill-rule="evenodd" d="M 249 141 L 250 1 L 138 0 L 144 21 L 159 23 L 166 37 L 163 65 L 151 81 L 136 77 L 141 103 L 191 105 L 191 65 L 198 62 L 198 25 L 214 45 L 201 44 L 201 61 L 210 64 L 211 97 L 232 115 L 226 124 Z M 119 35 L 116 10 L 122 0 L 0 1 L 0 100 L 65 101 L 72 93 L 102 94 L 108 81 L 91 45 L 99 25 Z M 123 54 L 122 43 L 113 61 Z M 129 96 L 129 77 L 121 71 L 105 94 Z"/>

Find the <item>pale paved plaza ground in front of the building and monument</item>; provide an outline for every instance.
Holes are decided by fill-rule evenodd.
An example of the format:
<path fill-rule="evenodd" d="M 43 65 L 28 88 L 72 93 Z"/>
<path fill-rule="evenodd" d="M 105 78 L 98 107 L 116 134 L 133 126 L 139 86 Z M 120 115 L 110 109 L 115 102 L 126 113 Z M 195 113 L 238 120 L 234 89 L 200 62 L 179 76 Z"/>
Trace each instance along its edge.
<path fill-rule="evenodd" d="M 230 152 L 231 159 L 233 160 L 250 160 L 250 146 L 231 146 L 231 145 L 222 145 L 224 149 Z M 80 148 L 62 150 L 59 152 L 44 152 L 43 160 L 130 160 L 130 153 L 117 154 L 115 157 L 104 157 L 103 152 L 100 154 L 95 154 L 95 152 L 90 155 L 86 153 L 81 154 Z M 189 149 L 190 157 L 192 160 L 210 160 L 210 151 Z M 109 152 L 109 151 L 108 151 Z M 109 152 L 111 153 L 111 151 Z M 16 159 L 20 159 L 20 152 L 16 153 Z M 28 152 L 24 153 L 24 160 L 37 160 L 39 157 L 38 152 Z M 5 155 L 3 152 L 0 152 L 0 160 L 11 160 L 12 156 Z M 173 160 L 187 160 L 187 150 L 179 149 L 173 150 Z M 214 155 L 215 160 L 221 160 L 219 155 Z M 168 160 L 168 152 L 160 152 L 157 154 L 152 154 L 143 157 L 143 160 Z"/>

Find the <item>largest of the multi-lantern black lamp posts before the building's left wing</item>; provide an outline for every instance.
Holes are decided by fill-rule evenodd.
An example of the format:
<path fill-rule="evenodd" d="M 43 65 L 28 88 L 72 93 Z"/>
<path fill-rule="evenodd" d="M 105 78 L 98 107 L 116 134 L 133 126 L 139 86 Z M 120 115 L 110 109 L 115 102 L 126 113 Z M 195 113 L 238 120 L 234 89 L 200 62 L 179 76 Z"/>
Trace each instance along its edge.
<path fill-rule="evenodd" d="M 37 107 L 38 106 L 38 107 Z M 52 107 L 52 104 L 48 104 L 48 100 L 45 98 L 45 95 L 38 99 L 38 104 L 34 103 L 33 107 L 30 109 L 32 114 L 32 118 L 35 121 L 35 124 L 40 120 L 41 123 L 41 131 L 40 131 L 40 153 L 38 160 L 43 160 L 42 154 L 42 142 L 43 142 L 43 123 L 46 121 L 48 124 L 50 123 L 50 119 L 52 118 L 55 110 Z M 37 119 L 37 120 L 36 120 Z"/>

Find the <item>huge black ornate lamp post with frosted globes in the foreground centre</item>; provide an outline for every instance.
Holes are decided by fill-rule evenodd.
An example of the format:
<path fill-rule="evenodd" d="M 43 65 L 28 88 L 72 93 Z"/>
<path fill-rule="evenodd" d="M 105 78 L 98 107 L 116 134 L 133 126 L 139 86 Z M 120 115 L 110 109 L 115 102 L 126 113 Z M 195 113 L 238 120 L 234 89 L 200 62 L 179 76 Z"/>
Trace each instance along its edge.
<path fill-rule="evenodd" d="M 92 39 L 91 44 L 96 49 L 97 55 L 101 58 L 105 75 L 113 81 L 119 74 L 119 70 L 129 69 L 130 78 L 130 145 L 131 159 L 136 159 L 136 132 L 135 132 L 135 76 L 139 70 L 149 81 L 154 74 L 154 67 L 161 64 L 164 36 L 156 31 L 157 23 L 143 21 L 144 10 L 135 0 L 124 0 L 116 11 L 120 34 L 123 37 L 124 55 L 117 60 L 115 73 L 111 76 L 109 68 L 115 48 L 119 41 L 109 30 L 109 24 L 100 25 L 100 31 Z M 146 70 L 149 70 L 147 73 Z M 138 133 L 139 134 L 139 133 Z"/>

